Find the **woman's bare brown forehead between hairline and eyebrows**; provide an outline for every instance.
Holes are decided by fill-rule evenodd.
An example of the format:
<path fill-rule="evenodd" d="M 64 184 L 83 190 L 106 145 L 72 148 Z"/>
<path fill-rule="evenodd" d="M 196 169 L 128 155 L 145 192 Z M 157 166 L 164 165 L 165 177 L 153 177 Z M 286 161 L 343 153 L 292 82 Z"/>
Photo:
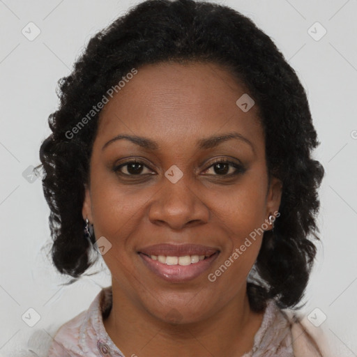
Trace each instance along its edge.
<path fill-rule="evenodd" d="M 214 63 L 146 65 L 102 109 L 97 136 L 105 141 L 135 133 L 169 144 L 238 131 L 259 139 L 258 108 L 243 112 L 236 104 L 245 93 L 236 77 Z"/>

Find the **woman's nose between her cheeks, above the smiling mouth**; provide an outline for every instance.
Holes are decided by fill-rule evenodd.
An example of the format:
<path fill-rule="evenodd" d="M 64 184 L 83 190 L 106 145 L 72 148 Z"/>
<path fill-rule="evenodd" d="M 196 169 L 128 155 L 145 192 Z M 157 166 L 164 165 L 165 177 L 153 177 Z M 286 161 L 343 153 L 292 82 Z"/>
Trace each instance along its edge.
<path fill-rule="evenodd" d="M 208 207 L 197 192 L 197 186 L 188 181 L 185 175 L 176 183 L 162 178 L 161 188 L 149 205 L 149 220 L 153 224 L 181 230 L 208 222 Z"/>

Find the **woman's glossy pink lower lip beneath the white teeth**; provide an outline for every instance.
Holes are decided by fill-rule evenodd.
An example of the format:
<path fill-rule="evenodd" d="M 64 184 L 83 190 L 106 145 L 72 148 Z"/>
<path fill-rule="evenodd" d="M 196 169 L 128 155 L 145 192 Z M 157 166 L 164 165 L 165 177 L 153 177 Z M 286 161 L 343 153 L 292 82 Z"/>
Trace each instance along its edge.
<path fill-rule="evenodd" d="M 187 282 L 197 278 L 199 275 L 208 270 L 213 264 L 213 261 L 218 257 L 219 252 L 211 255 L 204 260 L 200 260 L 197 263 L 182 266 L 182 265 L 167 265 L 162 264 L 160 261 L 153 260 L 147 255 L 139 253 L 139 256 L 144 261 L 144 264 L 160 278 L 167 282 Z"/>

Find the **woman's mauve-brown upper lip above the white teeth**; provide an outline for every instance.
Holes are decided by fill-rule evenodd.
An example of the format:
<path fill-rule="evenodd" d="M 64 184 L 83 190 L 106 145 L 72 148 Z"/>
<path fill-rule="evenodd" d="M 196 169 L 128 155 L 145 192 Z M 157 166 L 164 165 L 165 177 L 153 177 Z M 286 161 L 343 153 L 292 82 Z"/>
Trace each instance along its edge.
<path fill-rule="evenodd" d="M 169 257 L 183 257 L 185 255 L 204 255 L 210 257 L 215 252 L 219 252 L 217 248 L 208 247 L 198 244 L 155 244 L 138 250 L 139 253 L 145 255 L 166 255 Z"/>

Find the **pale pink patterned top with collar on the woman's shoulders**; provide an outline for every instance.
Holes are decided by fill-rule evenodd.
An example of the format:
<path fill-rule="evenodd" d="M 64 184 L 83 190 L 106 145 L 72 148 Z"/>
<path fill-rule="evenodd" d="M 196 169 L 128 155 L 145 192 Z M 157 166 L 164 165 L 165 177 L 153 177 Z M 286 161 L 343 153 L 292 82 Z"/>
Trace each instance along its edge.
<path fill-rule="evenodd" d="M 111 340 L 102 319 L 109 315 L 112 307 L 112 287 L 100 291 L 88 310 L 81 312 L 63 324 L 56 332 L 48 357 L 125 357 Z M 254 339 L 251 351 L 242 357 L 294 357 L 291 335 L 291 319 L 287 318 L 273 300 L 268 301 L 263 321 Z M 309 343 L 301 340 L 302 344 Z M 307 351 L 307 349 L 304 351 Z M 306 347 L 307 348 L 307 347 Z M 310 354 L 309 351 L 312 351 Z M 322 356 L 312 347 L 307 356 Z M 130 357 L 130 356 L 126 356 Z"/>

